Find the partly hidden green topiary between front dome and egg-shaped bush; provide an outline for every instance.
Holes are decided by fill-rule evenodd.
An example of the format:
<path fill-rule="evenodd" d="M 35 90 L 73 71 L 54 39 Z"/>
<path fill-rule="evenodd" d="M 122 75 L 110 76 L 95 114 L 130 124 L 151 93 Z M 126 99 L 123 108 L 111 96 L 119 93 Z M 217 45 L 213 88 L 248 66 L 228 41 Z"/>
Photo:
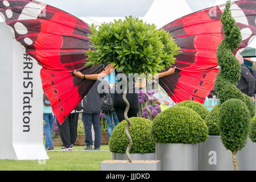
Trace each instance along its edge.
<path fill-rule="evenodd" d="M 208 127 L 209 135 L 220 135 L 220 129 L 218 128 L 218 112 L 220 110 L 220 104 L 213 107 L 210 113 L 205 117 L 204 121 Z"/>

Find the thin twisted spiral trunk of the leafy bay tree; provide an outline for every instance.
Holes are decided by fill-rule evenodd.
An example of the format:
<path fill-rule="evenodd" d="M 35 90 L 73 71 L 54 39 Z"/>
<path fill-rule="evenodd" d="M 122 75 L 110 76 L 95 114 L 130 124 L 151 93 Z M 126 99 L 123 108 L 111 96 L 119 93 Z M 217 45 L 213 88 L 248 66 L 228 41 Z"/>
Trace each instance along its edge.
<path fill-rule="evenodd" d="M 127 121 L 127 125 L 126 125 L 126 128 L 125 128 L 125 134 L 126 134 L 128 140 L 129 140 L 129 145 L 126 148 L 126 156 L 127 156 L 127 159 L 129 160 L 129 162 L 132 163 L 133 161 L 131 160 L 131 156 L 129 154 L 129 151 L 131 150 L 131 146 L 133 145 L 133 140 L 131 139 L 131 136 L 129 134 L 129 128 L 131 126 L 131 121 L 127 116 L 127 113 L 129 111 L 129 108 L 130 108 L 130 104 L 129 104 L 128 100 L 126 99 L 127 87 L 128 87 L 127 78 L 124 81 L 125 81 L 125 93 L 123 93 L 123 101 L 126 104 L 124 116 L 125 116 L 125 119 Z"/>

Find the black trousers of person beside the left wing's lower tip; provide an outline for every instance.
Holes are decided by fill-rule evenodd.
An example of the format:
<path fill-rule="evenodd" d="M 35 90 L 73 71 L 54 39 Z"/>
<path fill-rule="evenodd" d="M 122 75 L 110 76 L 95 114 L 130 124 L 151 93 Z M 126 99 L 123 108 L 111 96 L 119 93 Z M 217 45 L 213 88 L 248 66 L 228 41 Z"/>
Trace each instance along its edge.
<path fill-rule="evenodd" d="M 77 123 L 78 123 L 79 113 L 71 113 L 62 123 L 62 125 L 57 122 L 59 127 L 61 141 L 64 146 L 71 146 L 76 142 L 77 138 Z"/>

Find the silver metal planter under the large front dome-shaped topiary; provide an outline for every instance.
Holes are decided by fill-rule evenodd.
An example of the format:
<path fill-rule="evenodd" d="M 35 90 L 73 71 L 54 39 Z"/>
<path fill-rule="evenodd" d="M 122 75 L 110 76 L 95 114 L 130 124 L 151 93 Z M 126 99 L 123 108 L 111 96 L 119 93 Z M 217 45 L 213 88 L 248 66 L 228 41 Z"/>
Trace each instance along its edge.
<path fill-rule="evenodd" d="M 163 171 L 196 171 L 198 144 L 156 143 L 155 157 Z"/>

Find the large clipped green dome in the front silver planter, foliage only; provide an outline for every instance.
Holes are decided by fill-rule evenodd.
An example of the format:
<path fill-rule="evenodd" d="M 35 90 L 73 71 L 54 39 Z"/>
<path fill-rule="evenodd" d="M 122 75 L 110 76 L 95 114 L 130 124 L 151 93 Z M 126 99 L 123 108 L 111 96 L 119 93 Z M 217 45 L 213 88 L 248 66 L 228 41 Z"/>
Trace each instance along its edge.
<path fill-rule="evenodd" d="M 164 110 L 153 119 L 156 143 L 200 143 L 208 137 L 208 128 L 196 111 L 184 106 Z"/>

